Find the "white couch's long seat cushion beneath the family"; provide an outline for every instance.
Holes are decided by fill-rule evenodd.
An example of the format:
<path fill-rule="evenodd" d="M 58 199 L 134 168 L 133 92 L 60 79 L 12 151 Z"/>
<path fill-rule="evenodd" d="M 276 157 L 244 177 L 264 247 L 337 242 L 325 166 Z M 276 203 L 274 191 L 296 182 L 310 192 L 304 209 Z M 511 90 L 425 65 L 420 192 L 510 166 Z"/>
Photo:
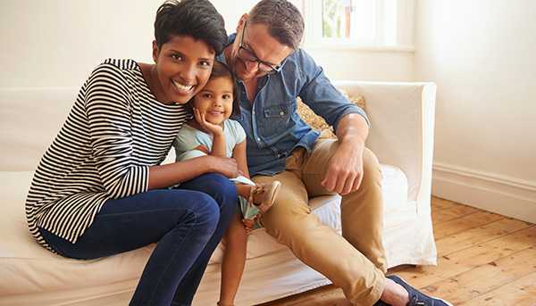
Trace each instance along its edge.
<path fill-rule="evenodd" d="M 382 191 L 386 220 L 397 207 L 406 205 L 407 179 L 396 167 L 381 165 Z M 24 201 L 33 172 L 0 172 L 0 295 L 36 293 L 39 291 L 83 288 L 121 282 L 141 275 L 154 244 L 92 261 L 63 258 L 37 244 L 29 234 L 24 216 Z M 310 205 L 322 223 L 340 233 L 339 196 L 323 196 Z M 390 226 L 386 222 L 386 226 Z M 221 262 L 220 244 L 211 263 Z M 263 228 L 255 230 L 248 240 L 247 258 L 263 256 L 284 249 Z M 84 277 L 79 277 L 84 275 Z"/>

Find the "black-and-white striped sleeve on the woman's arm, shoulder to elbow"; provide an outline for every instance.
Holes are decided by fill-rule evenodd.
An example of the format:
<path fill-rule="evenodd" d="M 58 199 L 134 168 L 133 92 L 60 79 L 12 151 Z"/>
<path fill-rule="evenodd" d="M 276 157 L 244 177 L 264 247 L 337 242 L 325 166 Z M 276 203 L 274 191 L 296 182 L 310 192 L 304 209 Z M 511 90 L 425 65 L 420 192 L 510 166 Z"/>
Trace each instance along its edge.
<path fill-rule="evenodd" d="M 84 105 L 77 115 L 88 120 L 91 155 L 106 194 L 116 199 L 147 191 L 149 167 L 132 158 L 129 85 L 121 70 L 103 63 L 84 87 Z"/>

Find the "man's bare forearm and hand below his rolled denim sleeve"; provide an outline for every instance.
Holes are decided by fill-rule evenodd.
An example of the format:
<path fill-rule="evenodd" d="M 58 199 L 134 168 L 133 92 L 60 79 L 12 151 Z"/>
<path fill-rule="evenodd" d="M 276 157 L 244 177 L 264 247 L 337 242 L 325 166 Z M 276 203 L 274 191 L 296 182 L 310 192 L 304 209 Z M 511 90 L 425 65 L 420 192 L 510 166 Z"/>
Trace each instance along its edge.
<path fill-rule="evenodd" d="M 322 186 L 342 195 L 359 188 L 363 179 L 364 141 L 368 130 L 368 124 L 360 114 L 348 113 L 339 120 L 336 131 L 339 147 L 331 156 Z"/>

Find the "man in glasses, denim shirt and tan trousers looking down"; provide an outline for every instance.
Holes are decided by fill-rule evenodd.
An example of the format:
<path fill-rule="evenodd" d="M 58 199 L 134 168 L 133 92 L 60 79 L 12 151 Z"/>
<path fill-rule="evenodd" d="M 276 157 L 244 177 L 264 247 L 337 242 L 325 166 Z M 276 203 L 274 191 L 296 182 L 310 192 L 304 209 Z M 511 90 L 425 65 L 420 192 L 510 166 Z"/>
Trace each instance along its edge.
<path fill-rule="evenodd" d="M 286 0 L 263 0 L 245 13 L 221 58 L 239 79 L 239 120 L 255 182 L 280 180 L 264 227 L 298 259 L 341 287 L 358 305 L 447 305 L 398 277 L 385 277 L 381 172 L 365 148 L 369 121 L 299 49 L 304 21 Z M 300 96 L 336 131 L 327 139 L 296 113 Z M 311 214 L 308 196 L 341 194 L 342 236 Z"/>

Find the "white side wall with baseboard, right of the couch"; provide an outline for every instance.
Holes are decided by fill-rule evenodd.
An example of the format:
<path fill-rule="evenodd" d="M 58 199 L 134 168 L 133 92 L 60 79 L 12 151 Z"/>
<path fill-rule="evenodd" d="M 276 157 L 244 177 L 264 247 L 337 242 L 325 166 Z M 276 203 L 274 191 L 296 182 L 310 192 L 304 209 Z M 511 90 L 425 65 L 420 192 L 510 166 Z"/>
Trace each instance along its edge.
<path fill-rule="evenodd" d="M 433 192 L 536 222 L 536 1 L 417 1 L 415 80 L 438 85 Z"/>

